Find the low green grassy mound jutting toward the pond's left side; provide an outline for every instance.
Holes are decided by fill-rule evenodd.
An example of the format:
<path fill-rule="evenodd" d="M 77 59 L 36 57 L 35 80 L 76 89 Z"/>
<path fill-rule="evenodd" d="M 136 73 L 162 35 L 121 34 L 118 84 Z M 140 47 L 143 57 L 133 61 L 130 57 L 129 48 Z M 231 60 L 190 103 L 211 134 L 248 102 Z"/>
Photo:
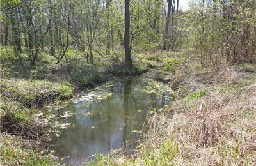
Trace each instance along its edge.
<path fill-rule="evenodd" d="M 27 107 L 40 106 L 57 98 L 68 99 L 72 96 L 70 86 L 45 80 L 2 79 L 0 93 Z"/>

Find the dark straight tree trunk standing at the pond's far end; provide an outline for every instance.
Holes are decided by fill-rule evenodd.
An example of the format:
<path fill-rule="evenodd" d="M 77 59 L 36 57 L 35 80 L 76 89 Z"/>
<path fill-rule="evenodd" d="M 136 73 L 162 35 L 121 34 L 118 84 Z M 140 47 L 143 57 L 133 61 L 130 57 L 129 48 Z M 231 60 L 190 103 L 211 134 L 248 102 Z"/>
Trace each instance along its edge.
<path fill-rule="evenodd" d="M 124 30 L 125 65 L 127 67 L 132 67 L 131 46 L 129 44 L 129 40 L 130 40 L 129 0 L 125 0 L 124 6 L 125 6 L 125 30 Z"/>

